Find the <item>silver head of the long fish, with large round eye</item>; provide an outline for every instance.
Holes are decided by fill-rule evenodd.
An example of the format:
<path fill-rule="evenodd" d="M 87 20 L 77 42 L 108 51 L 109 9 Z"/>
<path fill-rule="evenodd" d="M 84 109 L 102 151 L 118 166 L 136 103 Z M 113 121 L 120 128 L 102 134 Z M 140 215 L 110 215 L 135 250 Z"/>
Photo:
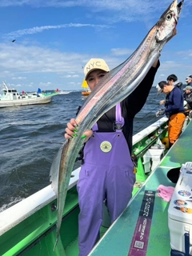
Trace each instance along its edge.
<path fill-rule="evenodd" d="M 174 30 L 178 24 L 178 18 L 181 14 L 184 0 L 178 3 L 178 0 L 174 0 L 162 14 L 161 18 L 156 24 L 157 42 L 165 42 L 174 35 Z"/>

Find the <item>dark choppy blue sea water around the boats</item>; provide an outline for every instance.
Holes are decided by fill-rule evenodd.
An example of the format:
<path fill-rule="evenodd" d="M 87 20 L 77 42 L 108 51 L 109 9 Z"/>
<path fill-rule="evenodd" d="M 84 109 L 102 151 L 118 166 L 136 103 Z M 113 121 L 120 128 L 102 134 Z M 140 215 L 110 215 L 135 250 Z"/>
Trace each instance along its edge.
<path fill-rule="evenodd" d="M 152 87 L 134 119 L 134 134 L 158 120 L 162 98 Z M 77 91 L 56 95 L 46 105 L 0 109 L 0 212 L 50 184 L 50 166 L 65 140 L 66 123 L 84 100 Z"/>

